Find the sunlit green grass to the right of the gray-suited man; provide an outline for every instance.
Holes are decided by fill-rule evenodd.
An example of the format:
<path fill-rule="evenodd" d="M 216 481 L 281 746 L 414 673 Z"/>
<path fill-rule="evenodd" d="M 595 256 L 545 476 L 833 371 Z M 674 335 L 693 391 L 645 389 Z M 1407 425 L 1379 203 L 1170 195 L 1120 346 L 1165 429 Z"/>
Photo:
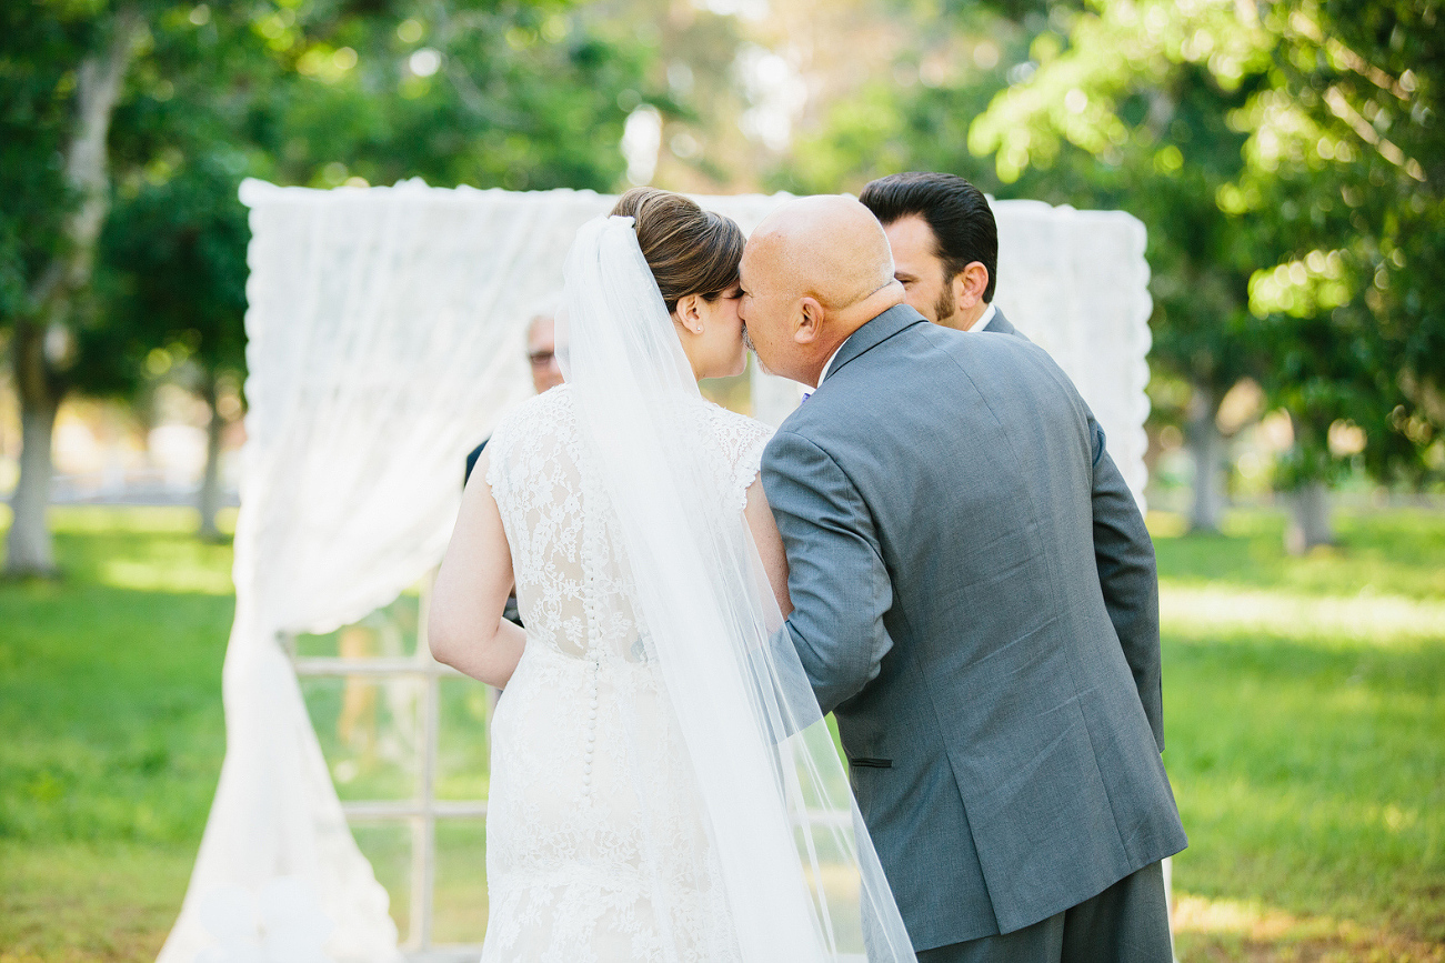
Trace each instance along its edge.
<path fill-rule="evenodd" d="M 1438 960 L 1445 519 L 1344 518 L 1306 558 L 1274 515 L 1159 528 L 1182 959 Z"/>

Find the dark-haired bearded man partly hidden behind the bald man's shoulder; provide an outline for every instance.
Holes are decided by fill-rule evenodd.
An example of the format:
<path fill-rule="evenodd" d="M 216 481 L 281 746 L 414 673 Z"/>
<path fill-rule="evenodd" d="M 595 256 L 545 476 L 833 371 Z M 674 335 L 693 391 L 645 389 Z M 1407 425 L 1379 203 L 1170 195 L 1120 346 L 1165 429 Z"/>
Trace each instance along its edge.
<path fill-rule="evenodd" d="M 955 174 L 892 174 L 858 200 L 883 223 L 909 307 L 955 331 L 1019 334 L 993 304 L 998 226 L 983 191 Z"/>

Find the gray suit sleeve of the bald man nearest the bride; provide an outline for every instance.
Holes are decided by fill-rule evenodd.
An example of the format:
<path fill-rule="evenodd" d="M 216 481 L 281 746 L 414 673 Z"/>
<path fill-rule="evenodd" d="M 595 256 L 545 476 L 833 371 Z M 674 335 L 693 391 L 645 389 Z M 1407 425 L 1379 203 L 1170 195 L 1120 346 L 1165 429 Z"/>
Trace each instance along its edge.
<path fill-rule="evenodd" d="M 857 696 L 893 641 L 883 613 L 893 584 L 873 515 L 818 445 L 777 432 L 763 453 L 763 490 L 788 549 L 788 632 L 824 713 Z"/>

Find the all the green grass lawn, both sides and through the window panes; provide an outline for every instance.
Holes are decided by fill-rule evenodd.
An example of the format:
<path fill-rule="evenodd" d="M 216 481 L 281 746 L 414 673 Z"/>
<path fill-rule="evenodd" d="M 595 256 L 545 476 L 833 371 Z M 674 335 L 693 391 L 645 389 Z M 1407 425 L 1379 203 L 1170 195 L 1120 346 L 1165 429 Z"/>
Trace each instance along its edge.
<path fill-rule="evenodd" d="M 178 509 L 53 519 L 65 580 L 0 584 L 0 963 L 149 962 L 220 772 L 230 549 Z M 1283 555 L 1274 513 L 1217 538 L 1152 523 L 1192 842 L 1181 959 L 1445 960 L 1445 515 L 1342 516 L 1341 547 L 1308 558 Z M 464 724 L 474 703 L 444 710 Z M 447 925 L 470 936 L 480 840 L 449 831 Z M 360 836 L 403 886 L 394 846 Z"/>

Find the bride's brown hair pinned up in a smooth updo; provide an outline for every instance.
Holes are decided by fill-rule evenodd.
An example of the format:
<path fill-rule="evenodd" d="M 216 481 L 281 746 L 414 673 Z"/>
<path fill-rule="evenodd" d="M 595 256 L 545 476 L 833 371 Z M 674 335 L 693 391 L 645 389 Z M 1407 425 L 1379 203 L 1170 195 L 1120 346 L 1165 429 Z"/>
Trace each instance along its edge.
<path fill-rule="evenodd" d="M 685 295 L 714 301 L 737 283 L 746 239 L 731 218 L 657 188 L 627 191 L 617 198 L 613 214 L 636 221 L 642 256 L 669 312 L 678 309 L 678 299 Z"/>

